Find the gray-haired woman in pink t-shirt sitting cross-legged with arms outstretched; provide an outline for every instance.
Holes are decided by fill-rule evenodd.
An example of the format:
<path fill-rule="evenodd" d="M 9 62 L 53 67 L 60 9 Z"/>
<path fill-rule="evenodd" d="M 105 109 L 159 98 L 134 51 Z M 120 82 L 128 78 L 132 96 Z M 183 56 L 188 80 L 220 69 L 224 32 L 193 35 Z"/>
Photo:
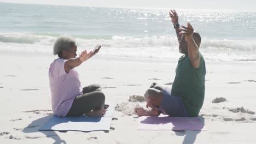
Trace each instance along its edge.
<path fill-rule="evenodd" d="M 51 63 L 49 81 L 51 89 L 51 107 L 56 116 L 103 116 L 108 105 L 100 85 L 90 85 L 82 89 L 79 75 L 75 67 L 96 55 L 98 45 L 89 53 L 84 50 L 77 56 L 77 45 L 74 38 L 61 35 L 54 43 L 54 55 L 59 58 Z"/>

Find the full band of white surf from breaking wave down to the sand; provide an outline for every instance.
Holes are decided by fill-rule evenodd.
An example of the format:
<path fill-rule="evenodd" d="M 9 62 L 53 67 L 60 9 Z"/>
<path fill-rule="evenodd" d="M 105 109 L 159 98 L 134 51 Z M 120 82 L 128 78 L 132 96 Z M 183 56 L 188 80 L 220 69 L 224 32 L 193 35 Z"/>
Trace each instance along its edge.
<path fill-rule="evenodd" d="M 0 51 L 53 53 L 57 34 L 0 33 Z M 75 36 L 78 53 L 102 44 L 97 55 L 110 57 L 178 59 L 178 41 L 174 35 L 127 37 L 113 35 L 108 39 Z M 255 61 L 254 40 L 202 39 L 200 51 L 210 61 Z"/>

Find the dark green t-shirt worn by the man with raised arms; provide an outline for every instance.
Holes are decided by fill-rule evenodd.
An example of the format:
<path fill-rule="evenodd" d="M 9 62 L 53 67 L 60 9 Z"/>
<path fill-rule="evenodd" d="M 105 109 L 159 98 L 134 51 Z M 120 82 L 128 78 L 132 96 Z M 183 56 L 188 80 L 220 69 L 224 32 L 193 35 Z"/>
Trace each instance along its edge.
<path fill-rule="evenodd" d="M 189 56 L 179 58 L 176 76 L 172 85 L 172 95 L 182 97 L 188 115 L 196 117 L 205 98 L 205 59 L 200 53 L 200 66 L 194 68 Z"/>

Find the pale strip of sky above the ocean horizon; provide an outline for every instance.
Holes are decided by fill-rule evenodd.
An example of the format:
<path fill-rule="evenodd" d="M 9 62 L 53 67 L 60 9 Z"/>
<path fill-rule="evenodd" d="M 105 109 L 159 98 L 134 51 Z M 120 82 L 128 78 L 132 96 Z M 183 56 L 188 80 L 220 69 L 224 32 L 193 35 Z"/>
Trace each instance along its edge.
<path fill-rule="evenodd" d="M 0 2 L 119 8 L 256 10 L 255 0 L 0 0 Z"/>

